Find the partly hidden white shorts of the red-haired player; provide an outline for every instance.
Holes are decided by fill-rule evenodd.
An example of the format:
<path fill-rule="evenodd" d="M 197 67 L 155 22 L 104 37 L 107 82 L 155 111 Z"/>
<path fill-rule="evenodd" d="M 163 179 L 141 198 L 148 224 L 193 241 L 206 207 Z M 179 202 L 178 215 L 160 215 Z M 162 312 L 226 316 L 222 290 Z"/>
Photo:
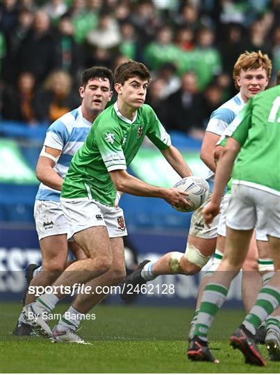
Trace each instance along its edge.
<path fill-rule="evenodd" d="M 215 217 L 213 222 L 210 224 L 210 226 L 206 226 L 204 223 L 204 218 L 202 215 L 202 210 L 206 206 L 207 203 L 211 201 L 211 193 L 208 194 L 208 198 L 206 202 L 200 206 L 195 212 L 192 214 L 192 219 L 190 222 L 190 235 L 193 235 L 198 238 L 217 238 L 217 224 L 220 219 L 220 213 Z M 222 210 L 222 207 L 224 205 L 224 199 L 222 199 L 220 210 Z"/>

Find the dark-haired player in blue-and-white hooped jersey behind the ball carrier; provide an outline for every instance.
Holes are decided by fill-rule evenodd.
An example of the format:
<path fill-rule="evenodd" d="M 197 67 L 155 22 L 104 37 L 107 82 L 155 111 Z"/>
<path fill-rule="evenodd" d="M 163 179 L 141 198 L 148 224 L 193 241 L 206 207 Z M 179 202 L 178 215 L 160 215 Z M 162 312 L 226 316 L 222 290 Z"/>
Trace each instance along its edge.
<path fill-rule="evenodd" d="M 112 82 L 113 73 L 110 69 L 86 69 L 79 88 L 81 106 L 57 119 L 47 131 L 36 167 L 36 176 L 41 183 L 34 206 L 42 267 L 36 269 L 36 276 L 33 277 L 33 270 L 38 266 L 28 266 L 28 278 L 32 278 L 31 287 L 45 287 L 58 278 L 67 266 L 68 247 L 72 249 L 76 259 L 87 258 L 76 242 L 67 241 L 67 220 L 61 208 L 60 190 L 74 153 L 85 142 L 92 122 L 104 110 L 113 95 Z M 24 304 L 28 305 L 35 301 L 35 298 L 35 294 L 27 292 Z M 32 334 L 32 327 L 24 319 L 23 314 L 19 316 L 13 334 Z M 74 339 L 76 340 L 76 336 Z"/>

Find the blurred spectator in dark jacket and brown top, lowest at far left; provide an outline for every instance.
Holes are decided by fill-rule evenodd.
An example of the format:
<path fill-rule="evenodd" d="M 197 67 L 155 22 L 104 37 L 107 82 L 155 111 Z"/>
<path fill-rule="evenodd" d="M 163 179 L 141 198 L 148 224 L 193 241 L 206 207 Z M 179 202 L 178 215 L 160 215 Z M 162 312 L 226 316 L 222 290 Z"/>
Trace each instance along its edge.
<path fill-rule="evenodd" d="M 10 85 L 3 92 L 3 119 L 35 124 L 37 119 L 33 110 L 34 95 L 35 77 L 32 73 L 23 72 L 19 75 L 17 88 Z"/>

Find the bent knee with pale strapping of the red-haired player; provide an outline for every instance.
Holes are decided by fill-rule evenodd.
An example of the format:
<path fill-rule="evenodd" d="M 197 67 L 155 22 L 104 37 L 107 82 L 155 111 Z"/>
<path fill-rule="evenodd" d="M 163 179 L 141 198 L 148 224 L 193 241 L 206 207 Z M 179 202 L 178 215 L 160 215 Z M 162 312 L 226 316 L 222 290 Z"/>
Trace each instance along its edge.
<path fill-rule="evenodd" d="M 186 247 L 186 252 L 183 256 L 183 270 L 187 274 L 197 274 L 203 268 L 211 256 L 204 256 L 203 253 L 194 245 L 188 243 Z"/>

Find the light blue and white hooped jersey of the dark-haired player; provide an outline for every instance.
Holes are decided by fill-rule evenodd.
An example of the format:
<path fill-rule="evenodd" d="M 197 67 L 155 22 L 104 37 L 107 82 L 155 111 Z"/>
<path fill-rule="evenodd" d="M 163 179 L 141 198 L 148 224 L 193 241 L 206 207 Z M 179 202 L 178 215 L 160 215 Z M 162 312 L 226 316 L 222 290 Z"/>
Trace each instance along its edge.
<path fill-rule="evenodd" d="M 74 153 L 85 142 L 92 124 L 85 119 L 81 106 L 57 119 L 47 130 L 44 146 L 61 150 L 61 155 L 53 170 L 65 178 Z M 60 192 L 40 183 L 35 199 L 39 201 L 60 201 Z"/>

